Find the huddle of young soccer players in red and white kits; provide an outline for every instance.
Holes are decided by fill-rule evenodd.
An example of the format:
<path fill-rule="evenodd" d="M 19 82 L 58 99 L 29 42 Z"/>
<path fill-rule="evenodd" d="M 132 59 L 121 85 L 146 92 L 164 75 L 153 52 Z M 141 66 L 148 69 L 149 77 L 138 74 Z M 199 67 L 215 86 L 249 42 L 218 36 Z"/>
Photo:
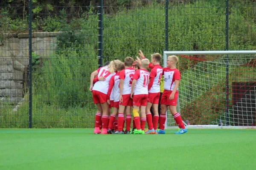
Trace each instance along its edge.
<path fill-rule="evenodd" d="M 151 54 L 151 62 L 144 57 L 142 51 L 139 55 L 140 58 L 137 57 L 136 61 L 131 57 L 126 57 L 124 62 L 116 59 L 91 74 L 90 91 L 98 109 L 94 133 L 165 134 L 168 107 L 179 126 L 175 134 L 186 133 L 186 127 L 176 110 L 180 82 L 180 71 L 176 68 L 178 57 L 169 56 L 167 67 L 162 68 L 160 66 L 162 56 L 159 53 Z M 150 73 L 147 71 L 148 68 L 151 69 Z M 159 116 L 159 84 L 162 75 L 164 91 L 160 99 Z M 151 107 L 153 117 L 150 112 Z M 112 113 L 111 108 L 113 108 Z M 132 131 L 130 131 L 131 113 L 133 113 Z M 145 130 L 146 122 L 147 130 Z M 159 130 L 157 130 L 158 122 Z"/>

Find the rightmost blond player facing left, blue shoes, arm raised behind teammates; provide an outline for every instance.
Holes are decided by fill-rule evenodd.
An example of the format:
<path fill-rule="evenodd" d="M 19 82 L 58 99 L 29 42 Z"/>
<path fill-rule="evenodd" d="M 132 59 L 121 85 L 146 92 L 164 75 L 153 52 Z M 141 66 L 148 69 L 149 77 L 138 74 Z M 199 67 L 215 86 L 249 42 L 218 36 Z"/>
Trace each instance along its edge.
<path fill-rule="evenodd" d="M 140 57 L 145 58 L 142 51 L 140 51 Z M 139 59 L 139 58 L 138 58 Z M 164 75 L 164 91 L 161 97 L 161 112 L 159 118 L 159 131 L 158 134 L 165 134 L 165 121 L 166 121 L 166 111 L 169 107 L 175 122 L 179 126 L 179 130 L 175 134 L 183 134 L 187 132 L 184 126 L 181 116 L 177 113 L 177 98 L 178 98 L 178 87 L 180 84 L 180 71 L 176 68 L 176 64 L 179 61 L 178 57 L 175 55 L 169 56 L 167 58 L 167 67 L 163 68 Z M 150 68 L 154 68 L 153 65 L 149 64 Z"/>

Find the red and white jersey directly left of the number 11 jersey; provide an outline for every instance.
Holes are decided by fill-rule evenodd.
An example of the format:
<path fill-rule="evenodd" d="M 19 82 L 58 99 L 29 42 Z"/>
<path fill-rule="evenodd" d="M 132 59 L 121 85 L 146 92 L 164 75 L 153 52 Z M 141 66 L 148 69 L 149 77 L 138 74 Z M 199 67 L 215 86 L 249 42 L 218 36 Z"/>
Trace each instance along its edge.
<path fill-rule="evenodd" d="M 124 87 L 122 94 L 131 94 L 131 84 L 133 80 L 135 70 L 132 67 L 125 68 L 124 70 L 120 71 L 119 79 L 124 80 Z"/>

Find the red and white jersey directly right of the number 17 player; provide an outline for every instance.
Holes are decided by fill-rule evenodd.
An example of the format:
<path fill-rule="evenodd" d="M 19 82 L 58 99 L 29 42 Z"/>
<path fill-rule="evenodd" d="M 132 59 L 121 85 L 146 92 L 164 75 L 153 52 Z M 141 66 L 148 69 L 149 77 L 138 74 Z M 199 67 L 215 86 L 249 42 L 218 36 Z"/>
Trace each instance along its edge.
<path fill-rule="evenodd" d="M 119 89 L 120 79 L 119 79 L 119 75 L 120 75 L 119 72 L 116 75 L 113 75 L 111 77 L 110 82 L 109 82 L 109 85 L 111 87 L 113 87 L 111 94 L 113 94 L 113 101 L 114 102 L 119 102 L 119 96 L 120 96 L 120 89 Z M 110 97 L 110 100 L 111 100 L 111 97 Z"/>

